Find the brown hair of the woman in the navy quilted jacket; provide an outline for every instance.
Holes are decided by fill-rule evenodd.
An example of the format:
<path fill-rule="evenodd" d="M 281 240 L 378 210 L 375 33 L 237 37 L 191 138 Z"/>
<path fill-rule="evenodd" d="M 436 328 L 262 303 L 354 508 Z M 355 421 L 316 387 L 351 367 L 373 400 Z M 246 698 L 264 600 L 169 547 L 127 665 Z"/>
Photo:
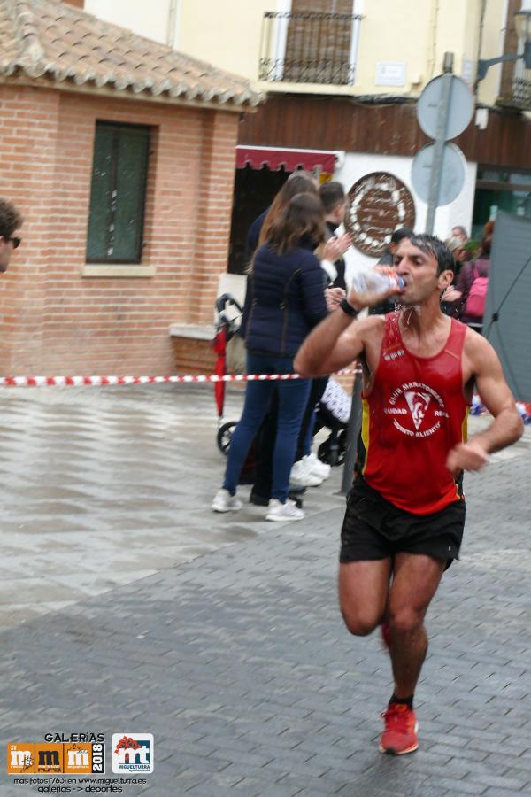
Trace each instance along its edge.
<path fill-rule="evenodd" d="M 273 221 L 266 243 L 277 252 L 294 249 L 302 238 L 315 248 L 325 240 L 325 211 L 319 197 L 296 194 Z"/>

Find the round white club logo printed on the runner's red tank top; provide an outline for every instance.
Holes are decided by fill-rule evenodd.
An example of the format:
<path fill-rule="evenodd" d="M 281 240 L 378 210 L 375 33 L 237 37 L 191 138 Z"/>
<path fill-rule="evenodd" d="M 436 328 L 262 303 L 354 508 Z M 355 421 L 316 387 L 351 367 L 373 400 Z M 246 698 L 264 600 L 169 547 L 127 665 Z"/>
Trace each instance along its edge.
<path fill-rule="evenodd" d="M 439 393 L 422 382 L 406 382 L 392 391 L 383 412 L 408 437 L 431 437 L 450 417 Z"/>

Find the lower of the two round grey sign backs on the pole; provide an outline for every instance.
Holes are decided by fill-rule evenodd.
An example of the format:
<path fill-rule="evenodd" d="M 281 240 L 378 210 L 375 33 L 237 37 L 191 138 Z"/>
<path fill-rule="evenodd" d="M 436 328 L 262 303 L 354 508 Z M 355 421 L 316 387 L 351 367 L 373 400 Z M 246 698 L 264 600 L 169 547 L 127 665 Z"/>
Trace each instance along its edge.
<path fill-rule="evenodd" d="M 432 163 L 434 159 L 435 144 L 426 144 L 417 152 L 412 164 L 412 183 L 419 198 L 423 202 L 429 201 L 429 183 L 431 180 Z M 443 164 L 441 166 L 441 187 L 437 205 L 450 205 L 465 184 L 466 160 L 456 144 L 444 144 Z"/>

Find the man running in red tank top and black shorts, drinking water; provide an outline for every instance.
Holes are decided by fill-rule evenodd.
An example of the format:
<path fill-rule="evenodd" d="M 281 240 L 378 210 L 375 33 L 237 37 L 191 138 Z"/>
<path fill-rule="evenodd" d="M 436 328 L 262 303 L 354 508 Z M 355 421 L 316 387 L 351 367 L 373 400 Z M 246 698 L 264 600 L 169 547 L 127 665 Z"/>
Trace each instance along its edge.
<path fill-rule="evenodd" d="M 413 695 L 427 653 L 424 617 L 443 572 L 458 558 L 465 524 L 462 477 L 511 445 L 523 424 L 496 352 L 443 315 L 453 277 L 449 249 L 412 236 L 397 251 L 403 309 L 356 320 L 381 301 L 350 290 L 296 355 L 304 376 L 363 367 L 363 422 L 354 484 L 342 525 L 339 597 L 356 636 L 382 625 L 395 689 L 384 713 L 381 752 L 419 746 Z M 389 290 L 389 296 L 400 292 Z M 466 439 L 473 385 L 494 420 Z"/>

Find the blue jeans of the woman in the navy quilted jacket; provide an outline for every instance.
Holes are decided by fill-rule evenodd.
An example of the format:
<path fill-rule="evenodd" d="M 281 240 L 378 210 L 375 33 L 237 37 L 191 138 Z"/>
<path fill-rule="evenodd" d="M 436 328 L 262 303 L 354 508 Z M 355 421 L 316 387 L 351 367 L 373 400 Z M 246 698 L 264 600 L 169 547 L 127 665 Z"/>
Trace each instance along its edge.
<path fill-rule="evenodd" d="M 247 353 L 248 374 L 291 374 L 293 357 L 275 354 Z M 279 415 L 277 436 L 273 451 L 273 485 L 271 497 L 285 503 L 289 492 L 289 472 L 296 453 L 296 441 L 308 396 L 310 379 L 289 379 L 285 382 L 248 382 L 245 403 L 240 421 L 232 437 L 227 456 L 227 469 L 223 487 L 235 495 L 240 472 L 250 444 L 269 408 L 273 392 L 278 391 Z"/>

